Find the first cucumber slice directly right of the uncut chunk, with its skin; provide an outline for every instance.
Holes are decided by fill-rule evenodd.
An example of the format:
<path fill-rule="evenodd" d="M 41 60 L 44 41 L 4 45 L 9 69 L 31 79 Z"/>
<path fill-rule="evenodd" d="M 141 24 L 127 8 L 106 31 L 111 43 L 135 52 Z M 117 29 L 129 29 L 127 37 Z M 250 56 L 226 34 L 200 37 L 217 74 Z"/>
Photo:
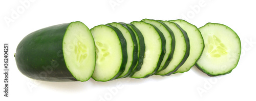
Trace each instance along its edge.
<path fill-rule="evenodd" d="M 92 78 L 110 81 L 119 77 L 127 62 L 126 41 L 121 31 L 111 25 L 91 29 L 96 46 L 96 66 Z"/>

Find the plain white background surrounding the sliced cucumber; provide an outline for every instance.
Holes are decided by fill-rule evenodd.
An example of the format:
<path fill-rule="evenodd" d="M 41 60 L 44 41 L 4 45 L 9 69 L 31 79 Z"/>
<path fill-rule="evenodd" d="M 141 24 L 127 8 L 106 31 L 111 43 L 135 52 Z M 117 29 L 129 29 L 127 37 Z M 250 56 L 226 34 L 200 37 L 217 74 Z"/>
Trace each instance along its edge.
<path fill-rule="evenodd" d="M 25 5 L 24 5 L 24 2 Z M 9 97 L 5 98 L 1 66 L 1 100 L 256 100 L 255 2 L 253 1 L 1 1 L 1 51 L 9 43 Z M 14 13 L 17 13 L 16 15 Z M 13 16 L 15 15 L 15 16 Z M 201 27 L 207 22 L 222 23 L 237 32 L 242 55 L 230 74 L 208 77 L 197 68 L 168 77 L 124 78 L 109 82 L 45 82 L 22 75 L 14 53 L 29 33 L 47 26 L 81 21 L 89 28 L 111 22 L 141 19 L 186 21 Z M 9 19 L 6 21 L 6 19 Z M 10 20 L 11 19 L 11 20 Z M 1 61 L 3 64 L 3 60 Z M 199 91 L 200 90 L 200 91 Z"/>

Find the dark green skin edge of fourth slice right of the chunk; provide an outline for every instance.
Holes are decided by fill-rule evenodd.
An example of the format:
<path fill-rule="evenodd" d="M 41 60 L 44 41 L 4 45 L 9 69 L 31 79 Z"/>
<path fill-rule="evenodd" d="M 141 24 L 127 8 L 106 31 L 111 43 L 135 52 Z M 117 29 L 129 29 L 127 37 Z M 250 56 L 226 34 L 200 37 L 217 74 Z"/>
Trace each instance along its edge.
<path fill-rule="evenodd" d="M 136 21 L 134 21 L 134 22 L 136 22 Z M 144 22 L 145 23 L 145 22 Z M 150 25 L 152 25 L 152 24 L 150 24 Z M 148 78 L 148 77 L 150 77 L 150 76 L 152 76 L 152 75 L 154 75 L 154 74 L 156 74 L 157 73 L 157 71 L 158 71 L 158 69 L 159 69 L 159 67 L 160 67 L 160 65 L 161 65 L 161 62 L 162 62 L 162 60 L 163 60 L 163 57 L 164 57 L 164 53 L 165 53 L 165 38 L 164 38 L 164 36 L 163 36 L 163 33 L 155 26 L 155 25 L 152 25 L 155 29 L 156 29 L 156 31 L 159 33 L 159 36 L 160 36 L 160 38 L 161 38 L 161 42 L 162 42 L 162 52 L 161 52 L 161 54 L 160 54 L 160 56 L 159 56 L 159 59 L 158 59 L 158 63 L 157 63 L 157 66 L 156 66 L 156 69 L 154 70 L 154 72 L 152 73 L 152 74 L 147 74 L 146 76 L 144 76 L 143 78 Z M 136 78 L 136 79 L 140 79 L 140 78 Z"/>

